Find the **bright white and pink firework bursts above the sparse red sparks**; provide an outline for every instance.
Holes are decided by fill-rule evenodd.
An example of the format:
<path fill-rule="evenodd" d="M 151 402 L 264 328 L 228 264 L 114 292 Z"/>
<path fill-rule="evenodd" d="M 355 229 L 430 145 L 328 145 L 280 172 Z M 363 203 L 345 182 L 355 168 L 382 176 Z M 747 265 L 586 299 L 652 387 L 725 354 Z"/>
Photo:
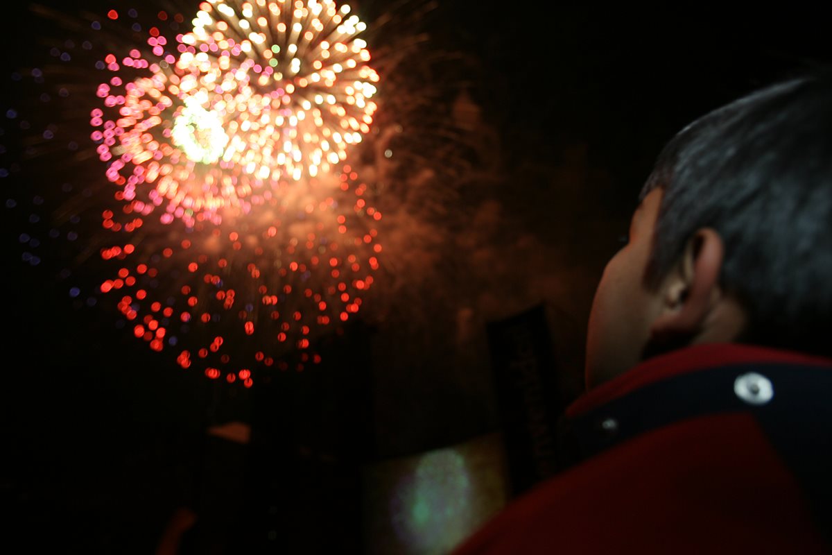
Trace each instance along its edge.
<path fill-rule="evenodd" d="M 153 27 L 148 54 L 108 54 L 91 123 L 116 200 L 145 216 L 160 206 L 163 223 L 218 223 L 343 163 L 369 131 L 379 81 L 355 37 L 364 23 L 347 13 L 214 0 L 175 41 Z"/>

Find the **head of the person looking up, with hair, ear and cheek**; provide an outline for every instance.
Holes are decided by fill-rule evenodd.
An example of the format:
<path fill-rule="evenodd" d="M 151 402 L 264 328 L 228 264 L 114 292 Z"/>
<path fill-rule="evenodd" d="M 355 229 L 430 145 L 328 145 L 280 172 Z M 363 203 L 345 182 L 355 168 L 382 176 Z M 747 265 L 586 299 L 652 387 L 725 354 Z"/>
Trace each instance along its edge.
<path fill-rule="evenodd" d="M 688 344 L 832 354 L 830 72 L 691 123 L 640 201 L 592 304 L 587 387 Z"/>

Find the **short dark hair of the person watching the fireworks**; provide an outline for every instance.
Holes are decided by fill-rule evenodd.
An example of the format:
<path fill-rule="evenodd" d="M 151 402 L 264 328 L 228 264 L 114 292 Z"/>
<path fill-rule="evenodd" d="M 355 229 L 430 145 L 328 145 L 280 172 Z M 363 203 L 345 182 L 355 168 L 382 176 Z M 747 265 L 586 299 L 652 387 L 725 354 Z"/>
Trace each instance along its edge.
<path fill-rule="evenodd" d="M 711 111 L 658 156 L 664 189 L 644 283 L 661 284 L 701 227 L 725 243 L 720 284 L 749 321 L 737 340 L 832 354 L 832 72 Z"/>

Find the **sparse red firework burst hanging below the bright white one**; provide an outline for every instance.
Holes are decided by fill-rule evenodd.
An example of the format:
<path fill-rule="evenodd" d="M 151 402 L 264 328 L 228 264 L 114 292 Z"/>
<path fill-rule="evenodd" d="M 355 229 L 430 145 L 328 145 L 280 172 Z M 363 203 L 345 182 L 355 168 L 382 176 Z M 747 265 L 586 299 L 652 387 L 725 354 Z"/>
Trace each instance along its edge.
<path fill-rule="evenodd" d="M 379 214 L 355 177 L 345 166 L 334 190 L 319 183 L 324 191 L 300 214 L 261 206 L 243 221 L 198 225 L 149 258 L 141 241 L 104 249 L 116 267 L 102 292 L 117 296 L 137 338 L 173 350 L 183 368 L 196 362 L 209 377 L 245 380 L 251 368 L 279 362 L 275 354 L 297 352 L 302 369 L 319 360 L 311 341 L 359 311 L 379 267 L 374 228 L 355 235 L 347 226 L 358 213 Z M 344 191 L 354 201 L 341 209 L 334 199 Z M 112 216 L 105 212 L 105 227 L 121 225 Z"/>

